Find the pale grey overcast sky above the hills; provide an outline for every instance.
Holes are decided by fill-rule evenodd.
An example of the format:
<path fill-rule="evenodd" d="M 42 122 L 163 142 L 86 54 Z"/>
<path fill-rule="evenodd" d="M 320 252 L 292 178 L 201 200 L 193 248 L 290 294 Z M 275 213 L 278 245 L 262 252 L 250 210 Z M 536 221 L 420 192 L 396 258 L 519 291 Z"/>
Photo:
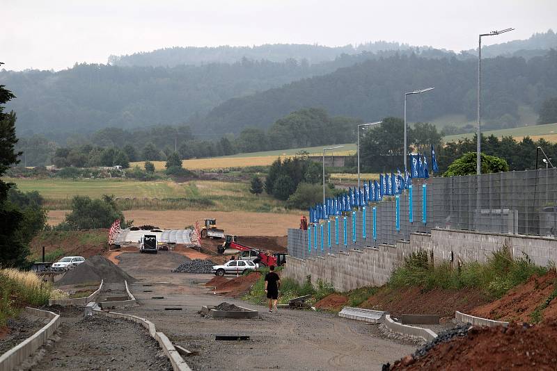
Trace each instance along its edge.
<path fill-rule="evenodd" d="M 460 51 L 557 31 L 557 0 L 1 0 L 6 69 L 64 69 L 175 46 L 387 40 Z"/>

